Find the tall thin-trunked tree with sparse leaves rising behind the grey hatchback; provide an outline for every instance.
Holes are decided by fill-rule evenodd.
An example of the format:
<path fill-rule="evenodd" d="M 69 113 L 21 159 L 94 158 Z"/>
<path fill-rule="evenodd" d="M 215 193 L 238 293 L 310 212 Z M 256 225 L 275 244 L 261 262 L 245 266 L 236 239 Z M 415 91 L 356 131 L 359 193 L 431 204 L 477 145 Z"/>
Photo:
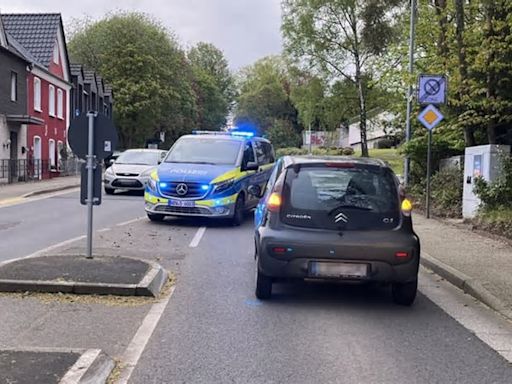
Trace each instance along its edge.
<path fill-rule="evenodd" d="M 284 0 L 282 30 L 287 52 L 334 78 L 354 83 L 362 155 L 368 156 L 365 76 L 372 60 L 395 36 L 398 0 Z"/>

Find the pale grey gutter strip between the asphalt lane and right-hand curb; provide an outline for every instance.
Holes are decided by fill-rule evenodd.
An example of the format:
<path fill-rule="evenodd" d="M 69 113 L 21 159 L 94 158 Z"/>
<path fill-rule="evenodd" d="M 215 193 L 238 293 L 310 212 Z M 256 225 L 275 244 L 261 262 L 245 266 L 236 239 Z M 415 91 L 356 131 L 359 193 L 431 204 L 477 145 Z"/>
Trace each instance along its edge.
<path fill-rule="evenodd" d="M 512 363 L 512 324 L 438 275 L 421 268 L 421 292 Z"/>

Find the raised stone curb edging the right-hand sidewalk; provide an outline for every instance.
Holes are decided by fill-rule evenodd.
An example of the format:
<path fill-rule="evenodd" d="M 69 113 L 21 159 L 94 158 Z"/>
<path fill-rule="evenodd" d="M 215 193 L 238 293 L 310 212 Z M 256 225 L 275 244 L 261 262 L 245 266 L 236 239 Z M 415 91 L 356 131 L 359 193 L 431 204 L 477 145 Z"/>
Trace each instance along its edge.
<path fill-rule="evenodd" d="M 489 292 L 477 279 L 465 275 L 455 268 L 443 263 L 439 259 L 422 252 L 421 264 L 461 289 L 464 293 L 473 296 L 488 307 L 499 312 L 509 320 L 512 320 L 512 309 L 507 307 L 502 300 Z"/>

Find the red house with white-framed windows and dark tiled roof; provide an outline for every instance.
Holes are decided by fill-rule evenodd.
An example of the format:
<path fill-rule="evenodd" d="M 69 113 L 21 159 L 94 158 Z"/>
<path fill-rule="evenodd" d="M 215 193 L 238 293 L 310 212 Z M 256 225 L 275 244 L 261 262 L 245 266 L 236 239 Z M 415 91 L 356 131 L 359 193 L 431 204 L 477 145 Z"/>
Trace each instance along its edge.
<path fill-rule="evenodd" d="M 42 177 L 58 174 L 62 149 L 66 148 L 70 121 L 71 73 L 60 14 L 1 15 L 6 34 L 24 48 L 28 114 L 41 119 L 28 125 L 27 158 Z"/>

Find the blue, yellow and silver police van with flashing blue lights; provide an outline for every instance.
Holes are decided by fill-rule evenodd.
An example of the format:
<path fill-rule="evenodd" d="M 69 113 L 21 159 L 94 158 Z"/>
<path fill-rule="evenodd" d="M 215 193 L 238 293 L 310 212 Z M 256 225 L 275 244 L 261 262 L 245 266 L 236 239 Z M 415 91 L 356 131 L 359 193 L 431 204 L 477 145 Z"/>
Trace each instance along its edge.
<path fill-rule="evenodd" d="M 240 225 L 259 200 L 249 187 L 265 186 L 274 161 L 270 142 L 251 132 L 197 131 L 182 136 L 151 173 L 145 191 L 148 218 L 227 218 Z"/>

